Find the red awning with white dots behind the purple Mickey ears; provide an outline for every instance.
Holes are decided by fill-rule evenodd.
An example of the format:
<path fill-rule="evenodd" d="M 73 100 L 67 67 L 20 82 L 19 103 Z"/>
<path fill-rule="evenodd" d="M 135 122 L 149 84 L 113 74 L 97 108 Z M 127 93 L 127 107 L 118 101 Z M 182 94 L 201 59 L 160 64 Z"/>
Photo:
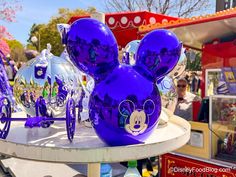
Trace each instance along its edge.
<path fill-rule="evenodd" d="M 74 16 L 68 23 L 72 24 L 75 20 L 86 17 L 89 16 Z M 125 47 L 132 40 L 142 38 L 138 32 L 141 25 L 165 23 L 177 19 L 176 17 L 146 11 L 105 14 L 106 25 L 114 33 L 120 47 Z"/>

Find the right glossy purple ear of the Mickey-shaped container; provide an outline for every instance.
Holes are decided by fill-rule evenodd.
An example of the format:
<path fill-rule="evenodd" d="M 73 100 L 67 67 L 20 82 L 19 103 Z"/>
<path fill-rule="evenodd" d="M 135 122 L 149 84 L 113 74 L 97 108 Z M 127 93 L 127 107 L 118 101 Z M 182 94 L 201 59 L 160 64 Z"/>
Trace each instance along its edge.
<path fill-rule="evenodd" d="M 152 31 L 139 44 L 135 69 L 150 79 L 162 79 L 177 64 L 181 48 L 182 44 L 171 31 Z"/>

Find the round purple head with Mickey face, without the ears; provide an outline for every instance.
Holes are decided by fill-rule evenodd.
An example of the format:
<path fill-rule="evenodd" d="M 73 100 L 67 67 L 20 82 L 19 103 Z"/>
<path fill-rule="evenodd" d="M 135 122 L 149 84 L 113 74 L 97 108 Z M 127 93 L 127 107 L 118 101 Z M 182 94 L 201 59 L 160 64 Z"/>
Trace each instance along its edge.
<path fill-rule="evenodd" d="M 120 65 L 95 86 L 89 106 L 98 136 L 118 146 L 145 141 L 158 123 L 161 100 L 156 84 Z"/>

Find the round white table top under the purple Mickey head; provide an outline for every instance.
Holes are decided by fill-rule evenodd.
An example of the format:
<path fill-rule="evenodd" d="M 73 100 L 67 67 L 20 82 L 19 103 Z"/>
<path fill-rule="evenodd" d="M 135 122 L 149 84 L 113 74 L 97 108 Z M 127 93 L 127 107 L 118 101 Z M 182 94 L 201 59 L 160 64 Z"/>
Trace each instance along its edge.
<path fill-rule="evenodd" d="M 111 147 L 102 142 L 93 128 L 76 125 L 72 143 L 67 139 L 66 123 L 55 122 L 49 128 L 24 128 L 24 122 L 12 122 L 6 140 L 0 140 L 0 153 L 17 158 L 47 162 L 96 163 L 121 162 L 161 155 L 187 143 L 190 124 L 175 115 L 165 126 L 158 126 L 144 144 Z M 17 113 L 13 117 L 22 117 Z"/>

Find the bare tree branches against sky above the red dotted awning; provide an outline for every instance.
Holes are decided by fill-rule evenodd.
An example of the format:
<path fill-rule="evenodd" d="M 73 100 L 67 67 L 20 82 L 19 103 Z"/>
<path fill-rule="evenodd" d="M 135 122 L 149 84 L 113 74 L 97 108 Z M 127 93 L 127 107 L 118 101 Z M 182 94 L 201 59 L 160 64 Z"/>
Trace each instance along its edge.
<path fill-rule="evenodd" d="M 105 0 L 108 11 L 143 11 L 189 17 L 210 8 L 210 0 Z"/>

